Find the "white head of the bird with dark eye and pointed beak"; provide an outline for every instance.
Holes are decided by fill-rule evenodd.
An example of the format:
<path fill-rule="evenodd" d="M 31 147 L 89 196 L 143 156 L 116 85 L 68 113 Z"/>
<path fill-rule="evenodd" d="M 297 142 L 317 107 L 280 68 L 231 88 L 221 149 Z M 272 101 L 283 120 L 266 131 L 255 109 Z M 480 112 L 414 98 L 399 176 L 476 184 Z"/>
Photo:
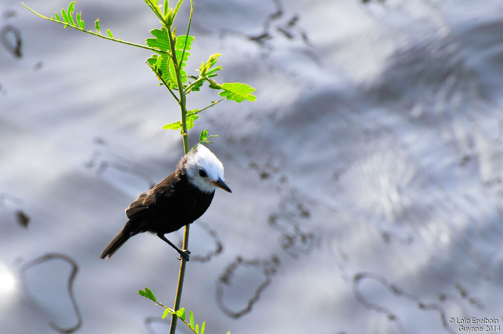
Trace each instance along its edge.
<path fill-rule="evenodd" d="M 212 193 L 217 187 L 231 192 L 224 182 L 222 162 L 204 145 L 187 153 L 183 163 L 189 182 L 202 192 Z"/>

